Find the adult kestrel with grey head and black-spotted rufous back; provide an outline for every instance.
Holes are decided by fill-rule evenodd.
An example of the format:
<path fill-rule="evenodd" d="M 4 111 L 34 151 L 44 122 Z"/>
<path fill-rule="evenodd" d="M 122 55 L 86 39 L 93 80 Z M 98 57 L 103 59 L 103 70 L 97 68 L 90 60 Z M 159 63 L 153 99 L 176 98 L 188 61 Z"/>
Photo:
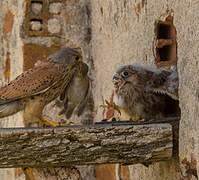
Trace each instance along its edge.
<path fill-rule="evenodd" d="M 23 110 L 25 126 L 38 125 L 44 120 L 44 107 L 64 91 L 81 66 L 81 54 L 65 48 L 25 71 L 0 88 L 0 118 Z"/>

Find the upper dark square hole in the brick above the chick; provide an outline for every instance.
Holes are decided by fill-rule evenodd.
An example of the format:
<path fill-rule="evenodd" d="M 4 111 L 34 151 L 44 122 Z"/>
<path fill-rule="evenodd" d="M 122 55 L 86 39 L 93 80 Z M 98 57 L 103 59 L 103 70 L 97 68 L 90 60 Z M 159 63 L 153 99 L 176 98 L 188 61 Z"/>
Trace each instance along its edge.
<path fill-rule="evenodd" d="M 171 26 L 168 24 L 158 24 L 157 38 L 158 39 L 170 39 L 171 38 Z"/>

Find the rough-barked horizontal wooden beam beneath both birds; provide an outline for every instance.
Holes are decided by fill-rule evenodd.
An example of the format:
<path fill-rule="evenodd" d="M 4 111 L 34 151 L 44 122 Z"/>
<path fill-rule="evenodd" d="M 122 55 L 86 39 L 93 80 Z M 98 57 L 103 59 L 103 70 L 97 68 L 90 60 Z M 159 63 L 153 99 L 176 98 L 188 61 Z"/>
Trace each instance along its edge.
<path fill-rule="evenodd" d="M 170 124 L 0 129 L 0 168 L 150 164 L 172 158 Z"/>

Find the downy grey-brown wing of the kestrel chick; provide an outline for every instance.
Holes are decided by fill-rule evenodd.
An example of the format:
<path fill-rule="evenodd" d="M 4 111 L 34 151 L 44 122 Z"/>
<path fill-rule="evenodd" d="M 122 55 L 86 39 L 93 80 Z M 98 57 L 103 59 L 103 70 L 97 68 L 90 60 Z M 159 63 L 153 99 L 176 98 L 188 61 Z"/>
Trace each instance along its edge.
<path fill-rule="evenodd" d="M 154 73 L 147 84 L 147 90 L 167 94 L 171 98 L 178 100 L 178 82 L 177 71 L 161 70 L 160 73 Z"/>

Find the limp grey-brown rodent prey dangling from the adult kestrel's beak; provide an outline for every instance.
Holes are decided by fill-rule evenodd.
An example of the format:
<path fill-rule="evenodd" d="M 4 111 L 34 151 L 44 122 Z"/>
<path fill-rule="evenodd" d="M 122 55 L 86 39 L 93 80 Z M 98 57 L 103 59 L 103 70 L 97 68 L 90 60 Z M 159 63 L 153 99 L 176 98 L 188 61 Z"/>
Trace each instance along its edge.
<path fill-rule="evenodd" d="M 80 116 L 88 102 L 91 82 L 87 73 L 88 66 L 83 64 L 60 96 L 60 100 L 64 101 L 64 109 L 60 114 L 64 113 L 67 119 L 71 117 L 74 110 Z"/>

